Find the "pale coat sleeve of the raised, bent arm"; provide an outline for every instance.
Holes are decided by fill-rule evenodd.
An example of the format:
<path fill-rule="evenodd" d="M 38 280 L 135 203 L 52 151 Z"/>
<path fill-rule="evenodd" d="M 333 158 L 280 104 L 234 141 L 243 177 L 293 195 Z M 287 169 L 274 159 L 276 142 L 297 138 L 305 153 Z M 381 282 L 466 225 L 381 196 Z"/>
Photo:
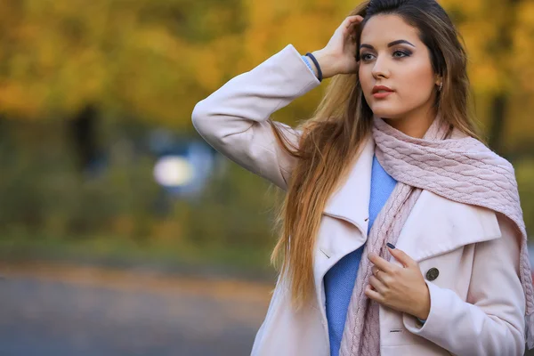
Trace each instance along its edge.
<path fill-rule="evenodd" d="M 215 150 L 286 190 L 295 158 L 282 150 L 267 119 L 319 84 L 295 47 L 288 44 L 199 101 L 192 122 Z M 298 142 L 297 131 L 279 122 L 275 125 L 284 129 L 290 142 Z"/>

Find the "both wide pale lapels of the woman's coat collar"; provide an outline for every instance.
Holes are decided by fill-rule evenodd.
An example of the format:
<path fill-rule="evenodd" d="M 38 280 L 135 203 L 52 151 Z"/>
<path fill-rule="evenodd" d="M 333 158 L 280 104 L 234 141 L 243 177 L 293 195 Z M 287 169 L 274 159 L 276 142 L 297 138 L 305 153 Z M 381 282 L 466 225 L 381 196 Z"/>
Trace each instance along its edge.
<path fill-rule="evenodd" d="M 356 226 L 365 241 L 368 236 L 368 207 L 375 141 L 367 142 L 346 180 L 328 199 L 323 214 Z M 490 209 L 458 203 L 424 190 L 404 224 L 397 247 L 416 261 L 447 253 L 457 247 L 498 239 L 501 231 L 495 212 Z M 320 236 L 319 247 L 328 259 L 336 250 L 344 255 L 344 247 L 333 247 L 329 234 Z M 337 241 L 341 242 L 341 241 Z M 334 254 L 338 255 L 338 254 Z M 336 256 L 339 257 L 339 256 Z M 332 261 L 330 261 L 332 263 Z"/>

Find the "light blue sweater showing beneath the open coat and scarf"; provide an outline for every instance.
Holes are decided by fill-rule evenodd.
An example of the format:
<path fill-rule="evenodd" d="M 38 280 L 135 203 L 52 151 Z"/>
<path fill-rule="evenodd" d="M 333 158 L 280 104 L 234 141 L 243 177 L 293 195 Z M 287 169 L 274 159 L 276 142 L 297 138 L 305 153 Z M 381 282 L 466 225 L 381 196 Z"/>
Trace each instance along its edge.
<path fill-rule="evenodd" d="M 372 224 L 375 222 L 376 215 L 378 215 L 391 195 L 395 184 L 397 184 L 397 181 L 384 171 L 384 168 L 380 166 L 378 160 L 374 157 L 371 173 L 368 231 L 370 231 Z M 331 356 L 339 354 L 347 310 L 351 302 L 352 289 L 358 274 L 364 246 L 345 255 L 327 272 L 324 278 Z"/>

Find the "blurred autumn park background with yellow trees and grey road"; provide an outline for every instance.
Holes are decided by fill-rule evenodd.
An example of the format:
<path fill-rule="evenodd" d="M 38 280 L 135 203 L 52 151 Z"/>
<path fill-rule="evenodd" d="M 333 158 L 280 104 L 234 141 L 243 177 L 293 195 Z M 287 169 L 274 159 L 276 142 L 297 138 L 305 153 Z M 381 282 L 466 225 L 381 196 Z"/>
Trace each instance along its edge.
<path fill-rule="evenodd" d="M 534 1 L 440 3 L 532 236 Z M 2 0 L 0 355 L 248 354 L 274 286 L 276 191 L 190 114 L 286 44 L 320 49 L 357 4 Z M 275 119 L 309 117 L 325 87 Z"/>

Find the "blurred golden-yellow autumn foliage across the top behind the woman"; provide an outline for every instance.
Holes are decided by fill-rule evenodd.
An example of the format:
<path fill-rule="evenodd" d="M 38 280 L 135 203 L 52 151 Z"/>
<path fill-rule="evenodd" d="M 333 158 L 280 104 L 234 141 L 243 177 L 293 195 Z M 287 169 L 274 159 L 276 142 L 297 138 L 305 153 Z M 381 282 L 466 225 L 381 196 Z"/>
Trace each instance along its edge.
<path fill-rule="evenodd" d="M 0 110 L 6 117 L 44 119 L 69 117 L 94 103 L 113 115 L 190 129 L 198 100 L 287 44 L 302 53 L 320 49 L 357 3 L 4 0 Z M 530 108 L 534 1 L 440 3 L 465 39 L 477 105 L 506 93 L 510 102 L 527 98 Z M 500 45 L 503 30 L 510 45 Z M 299 100 L 300 112 L 311 113 L 318 98 Z M 477 112 L 488 121 L 486 108 Z M 510 125 L 529 119 L 526 112 L 517 115 Z"/>

